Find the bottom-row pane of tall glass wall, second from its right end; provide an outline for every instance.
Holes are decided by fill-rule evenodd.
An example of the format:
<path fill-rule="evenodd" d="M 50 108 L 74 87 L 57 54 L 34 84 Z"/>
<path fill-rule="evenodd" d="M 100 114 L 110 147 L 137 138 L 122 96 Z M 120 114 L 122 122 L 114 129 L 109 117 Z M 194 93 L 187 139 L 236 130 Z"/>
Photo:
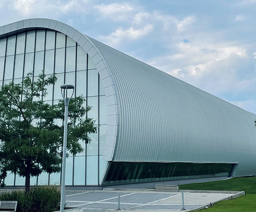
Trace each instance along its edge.
<path fill-rule="evenodd" d="M 86 175 L 87 185 L 98 185 L 98 156 L 87 157 Z"/>

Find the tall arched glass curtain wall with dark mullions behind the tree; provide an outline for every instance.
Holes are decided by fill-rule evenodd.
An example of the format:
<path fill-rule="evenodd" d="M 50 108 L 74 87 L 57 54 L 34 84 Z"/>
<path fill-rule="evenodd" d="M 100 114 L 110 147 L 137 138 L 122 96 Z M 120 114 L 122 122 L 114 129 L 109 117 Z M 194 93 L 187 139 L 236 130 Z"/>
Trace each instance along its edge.
<path fill-rule="evenodd" d="M 62 84 L 75 85 L 75 96 L 82 95 L 85 104 L 92 106 L 87 116 L 96 120 L 98 128 L 96 134 L 91 134 L 90 144 L 80 141 L 85 149 L 83 153 L 67 158 L 66 185 L 99 185 L 107 165 L 102 159 L 107 106 L 98 71 L 88 54 L 70 37 L 52 30 L 32 30 L 0 39 L 0 85 L 22 82 L 29 72 L 33 72 L 33 80 L 37 80 L 42 70 L 46 76 L 55 74 L 58 80 L 47 88 L 47 96 L 41 98 L 55 104 L 62 98 Z M 60 181 L 60 173 L 42 173 L 31 178 L 31 185 L 59 184 Z M 24 182 L 24 177 L 11 173 L 5 180 L 6 185 L 24 185 Z"/>

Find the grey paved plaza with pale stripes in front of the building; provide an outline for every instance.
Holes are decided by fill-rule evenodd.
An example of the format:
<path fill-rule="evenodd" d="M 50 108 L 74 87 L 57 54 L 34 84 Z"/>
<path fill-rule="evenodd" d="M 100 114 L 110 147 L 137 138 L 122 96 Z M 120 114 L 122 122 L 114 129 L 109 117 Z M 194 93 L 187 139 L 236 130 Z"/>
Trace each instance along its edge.
<path fill-rule="evenodd" d="M 118 209 L 118 194 L 120 194 L 121 211 L 170 211 L 182 209 L 182 194 L 180 192 L 98 190 L 98 191 L 66 191 L 66 202 L 69 207 L 83 208 L 84 212 L 110 212 Z M 208 206 L 234 194 L 216 193 L 184 193 L 186 211 Z M 119 211 L 119 212 L 121 212 Z"/>

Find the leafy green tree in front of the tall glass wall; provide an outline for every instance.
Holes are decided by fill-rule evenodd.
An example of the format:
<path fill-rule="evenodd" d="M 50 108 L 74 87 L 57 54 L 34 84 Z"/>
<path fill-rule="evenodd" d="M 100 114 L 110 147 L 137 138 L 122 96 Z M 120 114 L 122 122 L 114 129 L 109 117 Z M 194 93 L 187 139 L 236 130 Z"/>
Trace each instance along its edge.
<path fill-rule="evenodd" d="M 30 177 L 43 171 L 61 171 L 63 144 L 63 100 L 55 105 L 40 100 L 57 78 L 46 78 L 43 73 L 35 82 L 31 78 L 29 73 L 23 83 L 12 82 L 0 88 L 0 184 L 4 186 L 7 172 L 11 171 L 25 177 L 26 191 Z M 85 118 L 91 107 L 85 108 L 84 102 L 79 96 L 69 103 L 67 150 L 73 155 L 83 151 L 79 140 L 89 143 L 88 134 L 97 131 L 95 121 Z"/>

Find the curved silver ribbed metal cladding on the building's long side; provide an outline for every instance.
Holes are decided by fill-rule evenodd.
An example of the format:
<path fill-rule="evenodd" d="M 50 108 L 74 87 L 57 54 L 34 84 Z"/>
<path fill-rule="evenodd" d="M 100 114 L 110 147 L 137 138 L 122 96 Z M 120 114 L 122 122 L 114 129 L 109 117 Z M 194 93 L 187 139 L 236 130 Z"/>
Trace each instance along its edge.
<path fill-rule="evenodd" d="M 116 82 L 114 161 L 238 163 L 256 174 L 256 115 L 89 38 Z"/>

